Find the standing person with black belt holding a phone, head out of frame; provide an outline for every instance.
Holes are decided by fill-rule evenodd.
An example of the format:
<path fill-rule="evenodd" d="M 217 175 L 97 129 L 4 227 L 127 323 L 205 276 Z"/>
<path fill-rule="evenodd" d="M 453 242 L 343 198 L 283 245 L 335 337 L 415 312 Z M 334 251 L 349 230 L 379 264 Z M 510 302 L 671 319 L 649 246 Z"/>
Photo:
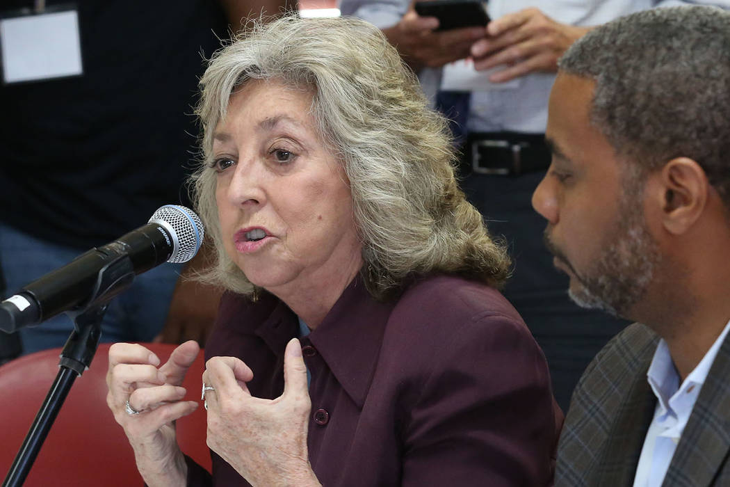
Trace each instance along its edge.
<path fill-rule="evenodd" d="M 423 90 L 456 121 L 462 187 L 493 234 L 507 239 L 515 266 L 504 294 L 545 351 L 553 391 L 564 410 L 583 369 L 626 322 L 582 310 L 569 300 L 567 279 L 553 268 L 553 258 L 542 245 L 544 226 L 531 208 L 531 194 L 550 164 L 544 133 L 556 61 L 591 26 L 683 3 L 491 0 L 486 4 L 492 19 L 487 26 L 450 31 L 438 31 L 439 19 L 418 15 L 409 0 L 340 3 L 343 15 L 356 15 L 383 29 L 418 73 Z M 704 3 L 730 6 L 727 0 Z M 442 67 L 469 57 L 477 71 L 491 71 L 471 91 L 440 91 L 450 69 Z"/>

